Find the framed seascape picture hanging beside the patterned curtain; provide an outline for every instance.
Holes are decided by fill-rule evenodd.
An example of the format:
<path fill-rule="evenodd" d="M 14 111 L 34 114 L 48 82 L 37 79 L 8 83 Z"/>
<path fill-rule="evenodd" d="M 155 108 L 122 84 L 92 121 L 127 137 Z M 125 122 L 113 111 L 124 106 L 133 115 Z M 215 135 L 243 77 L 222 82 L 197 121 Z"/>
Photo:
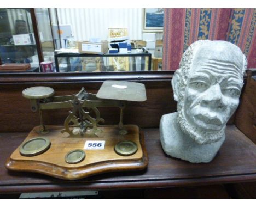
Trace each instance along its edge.
<path fill-rule="evenodd" d="M 143 10 L 143 30 L 162 31 L 164 27 L 164 9 L 147 8 Z"/>

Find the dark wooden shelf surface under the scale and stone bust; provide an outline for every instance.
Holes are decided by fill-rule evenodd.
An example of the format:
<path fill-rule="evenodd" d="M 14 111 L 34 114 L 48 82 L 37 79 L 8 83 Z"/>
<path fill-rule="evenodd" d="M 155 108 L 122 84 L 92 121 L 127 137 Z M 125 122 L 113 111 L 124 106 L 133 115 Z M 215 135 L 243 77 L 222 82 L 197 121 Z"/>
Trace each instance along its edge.
<path fill-rule="evenodd" d="M 256 145 L 235 125 L 228 125 L 226 140 L 210 163 L 194 164 L 162 151 L 159 129 L 143 129 L 149 164 L 146 170 L 107 173 L 76 181 L 8 171 L 5 161 L 26 138 L 27 132 L 0 133 L 0 193 L 130 189 L 199 186 L 256 181 Z"/>

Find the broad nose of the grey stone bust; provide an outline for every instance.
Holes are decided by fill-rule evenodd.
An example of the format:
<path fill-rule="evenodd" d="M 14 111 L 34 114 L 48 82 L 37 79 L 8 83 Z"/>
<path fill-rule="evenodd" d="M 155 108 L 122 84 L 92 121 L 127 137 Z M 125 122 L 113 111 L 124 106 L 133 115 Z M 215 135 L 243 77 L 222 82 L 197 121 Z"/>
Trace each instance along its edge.
<path fill-rule="evenodd" d="M 223 110 L 226 108 L 223 102 L 223 94 L 218 83 L 208 88 L 202 96 L 201 106 Z"/>

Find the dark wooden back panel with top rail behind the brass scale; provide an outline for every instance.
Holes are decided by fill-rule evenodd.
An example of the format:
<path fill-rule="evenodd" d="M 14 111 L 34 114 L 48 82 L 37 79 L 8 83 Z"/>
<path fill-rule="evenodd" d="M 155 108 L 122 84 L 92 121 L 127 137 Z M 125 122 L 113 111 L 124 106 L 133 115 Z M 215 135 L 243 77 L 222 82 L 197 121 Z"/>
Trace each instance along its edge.
<path fill-rule="evenodd" d="M 103 81 L 107 79 L 135 81 L 146 85 L 147 101 L 129 102 L 124 110 L 124 123 L 139 127 L 158 127 L 161 116 L 176 112 L 173 100 L 171 79 L 173 71 L 109 72 L 109 73 L 44 73 L 0 76 L 0 132 L 31 131 L 39 124 L 38 113 L 30 110 L 22 90 L 36 85 L 54 88 L 56 95 L 78 93 L 84 87 L 89 93 L 97 93 Z M 117 124 L 119 109 L 100 108 L 105 124 Z M 68 112 L 66 110 L 48 111 L 43 114 L 46 125 L 63 125 Z M 228 124 L 233 124 L 235 114 Z"/>

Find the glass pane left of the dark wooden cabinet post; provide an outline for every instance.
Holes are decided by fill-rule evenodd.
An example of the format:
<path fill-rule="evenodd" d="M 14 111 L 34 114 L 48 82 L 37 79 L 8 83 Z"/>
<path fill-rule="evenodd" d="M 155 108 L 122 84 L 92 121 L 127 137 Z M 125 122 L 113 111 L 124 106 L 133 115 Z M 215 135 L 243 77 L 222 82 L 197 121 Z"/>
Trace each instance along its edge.
<path fill-rule="evenodd" d="M 0 56 L 2 64 L 39 67 L 30 9 L 0 9 Z"/>

